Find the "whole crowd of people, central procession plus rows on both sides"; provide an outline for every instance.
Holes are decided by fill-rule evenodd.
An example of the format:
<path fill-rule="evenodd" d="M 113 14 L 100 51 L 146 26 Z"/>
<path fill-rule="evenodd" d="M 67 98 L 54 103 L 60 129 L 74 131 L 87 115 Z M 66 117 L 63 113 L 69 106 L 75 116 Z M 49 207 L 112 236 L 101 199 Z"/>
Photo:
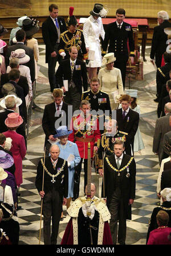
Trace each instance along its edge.
<path fill-rule="evenodd" d="M 132 26 L 124 22 L 125 10 L 117 9 L 116 21 L 104 31 L 101 18 L 108 10 L 100 3 L 89 12 L 83 30 L 78 28 L 74 7 L 66 22 L 58 12 L 58 6 L 51 4 L 50 16 L 42 24 L 53 99 L 44 106 L 44 158 L 38 163 L 35 180 L 42 200 L 44 244 L 57 243 L 66 205 L 71 219 L 63 245 L 125 245 L 136 196 L 134 153 L 144 149 L 138 91 L 125 88 L 128 59 L 134 63 L 135 56 Z M 157 66 L 153 152 L 160 164 L 157 196 L 161 205 L 150 219 L 148 245 L 170 244 L 171 53 L 166 51 L 164 31 L 171 27 L 168 19 L 165 11 L 158 13 L 150 54 Z M 11 30 L 9 45 L 0 39 L 0 244 L 19 241 L 17 211 L 27 151 L 28 105 L 34 108 L 38 78 L 38 41 L 32 36 L 39 30 L 39 21 L 24 16 L 17 25 Z M 0 25 L 0 38 L 6 32 Z M 101 198 L 95 196 L 96 184 L 91 182 L 93 164 L 103 177 Z M 84 197 L 79 197 L 82 165 Z"/>

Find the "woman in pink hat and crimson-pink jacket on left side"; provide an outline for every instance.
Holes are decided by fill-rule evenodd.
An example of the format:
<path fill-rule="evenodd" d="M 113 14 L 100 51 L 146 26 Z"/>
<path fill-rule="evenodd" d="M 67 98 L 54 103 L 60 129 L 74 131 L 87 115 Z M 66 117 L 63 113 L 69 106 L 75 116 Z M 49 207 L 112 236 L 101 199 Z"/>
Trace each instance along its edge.
<path fill-rule="evenodd" d="M 22 160 L 26 155 L 25 139 L 22 135 L 16 132 L 16 129 L 23 123 L 22 117 L 18 113 L 10 113 L 5 120 L 5 124 L 8 128 L 7 132 L 3 132 L 6 137 L 10 137 L 12 141 L 12 147 L 10 149 L 13 154 L 15 163 L 15 179 L 17 186 L 19 187 L 22 182 Z"/>

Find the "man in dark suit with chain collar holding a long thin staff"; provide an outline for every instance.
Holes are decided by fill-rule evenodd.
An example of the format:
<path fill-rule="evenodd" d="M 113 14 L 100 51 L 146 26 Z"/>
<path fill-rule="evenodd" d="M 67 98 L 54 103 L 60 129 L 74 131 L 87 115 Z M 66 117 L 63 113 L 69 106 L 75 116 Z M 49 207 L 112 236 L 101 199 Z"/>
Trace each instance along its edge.
<path fill-rule="evenodd" d="M 62 204 L 67 204 L 68 164 L 59 157 L 58 145 L 52 145 L 50 156 L 39 161 L 35 185 L 43 200 L 43 237 L 45 245 L 56 245 Z M 42 189 L 44 170 L 44 188 Z M 52 233 L 51 233 L 52 217 Z"/>

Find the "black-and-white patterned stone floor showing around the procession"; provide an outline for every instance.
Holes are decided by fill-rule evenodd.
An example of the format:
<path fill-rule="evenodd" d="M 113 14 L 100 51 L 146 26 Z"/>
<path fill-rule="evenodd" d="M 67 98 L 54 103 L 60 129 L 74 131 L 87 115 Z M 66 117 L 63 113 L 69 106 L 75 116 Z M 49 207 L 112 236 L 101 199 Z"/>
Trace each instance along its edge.
<path fill-rule="evenodd" d="M 40 59 L 38 62 L 39 77 L 36 81 L 36 108 L 32 111 L 31 126 L 29 128 L 27 155 L 23 160 L 23 184 L 21 185 L 21 196 L 19 205 L 22 209 L 18 211 L 20 224 L 20 245 L 38 245 L 40 229 L 40 197 L 35 188 L 36 165 L 43 157 L 44 133 L 42 129 L 42 115 L 44 105 L 52 101 L 50 86 L 47 78 L 47 64 L 45 64 L 45 47 L 39 46 Z M 139 90 L 139 104 L 141 108 L 140 131 L 145 144 L 145 149 L 135 153 L 137 164 L 136 174 L 136 198 L 132 205 L 132 221 L 127 221 L 128 245 L 145 245 L 148 221 L 152 210 L 159 204 L 156 196 L 156 182 L 158 177 L 158 158 L 152 152 L 154 126 L 157 119 L 157 103 L 153 99 L 156 93 L 155 77 L 156 71 L 149 61 L 150 47 L 146 47 L 146 62 L 143 63 L 144 80 L 127 82 L 126 87 Z M 93 172 L 93 181 L 101 193 L 101 177 Z M 83 195 L 83 173 L 80 184 L 80 196 Z M 63 206 L 66 214 L 66 206 Z M 62 239 L 67 222 L 67 216 L 60 222 L 58 244 Z M 43 219 L 42 219 L 43 220 Z M 43 227 L 43 221 L 42 221 Z M 41 231 L 41 244 L 43 244 L 43 229 Z"/>

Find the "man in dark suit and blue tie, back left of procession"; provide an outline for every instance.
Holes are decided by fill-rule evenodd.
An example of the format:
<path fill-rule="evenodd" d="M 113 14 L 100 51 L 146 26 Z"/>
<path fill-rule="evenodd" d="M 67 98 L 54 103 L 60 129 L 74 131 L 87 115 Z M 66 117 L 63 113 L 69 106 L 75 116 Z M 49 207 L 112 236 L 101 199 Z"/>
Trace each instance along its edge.
<path fill-rule="evenodd" d="M 51 92 L 56 88 L 55 67 L 58 61 L 60 34 L 67 30 L 64 18 L 58 17 L 58 6 L 49 6 L 50 17 L 42 24 L 43 41 L 46 44 L 46 63 L 48 63 L 48 80 Z M 58 19 L 57 19 L 58 17 Z"/>

